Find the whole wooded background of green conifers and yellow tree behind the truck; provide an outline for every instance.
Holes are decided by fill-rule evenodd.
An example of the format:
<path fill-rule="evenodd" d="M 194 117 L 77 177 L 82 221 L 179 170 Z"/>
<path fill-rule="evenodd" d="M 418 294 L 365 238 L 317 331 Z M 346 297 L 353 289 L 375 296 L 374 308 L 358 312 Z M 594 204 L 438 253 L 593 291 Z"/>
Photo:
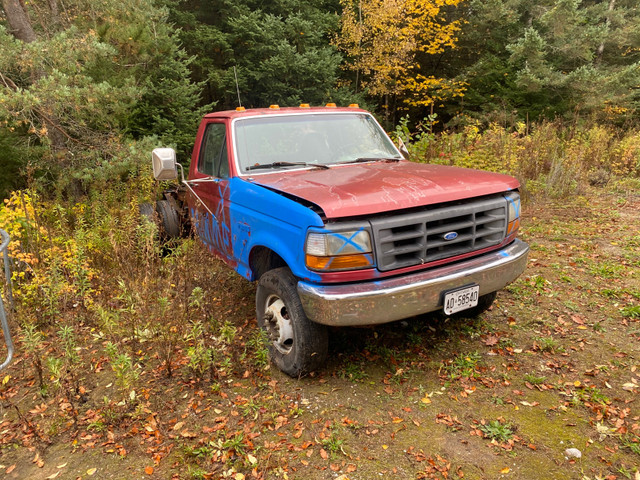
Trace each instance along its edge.
<path fill-rule="evenodd" d="M 234 68 L 247 107 L 359 103 L 390 131 L 425 120 L 429 132 L 543 120 L 634 128 L 636 7 L 2 0 L 0 191 L 34 180 L 86 191 L 95 176 L 125 175 L 138 141 L 187 157 L 201 115 L 237 106 Z"/>

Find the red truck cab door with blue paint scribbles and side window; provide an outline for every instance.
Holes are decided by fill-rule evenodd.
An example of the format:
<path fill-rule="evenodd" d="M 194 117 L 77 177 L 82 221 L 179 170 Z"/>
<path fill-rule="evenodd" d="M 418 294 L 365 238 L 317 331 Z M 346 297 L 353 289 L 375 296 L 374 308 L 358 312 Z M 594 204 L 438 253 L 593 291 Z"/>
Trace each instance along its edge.
<path fill-rule="evenodd" d="M 231 261 L 227 143 L 224 123 L 206 126 L 196 171 L 189 183 L 197 196 L 192 199 L 191 211 L 198 235 L 214 254 Z"/>

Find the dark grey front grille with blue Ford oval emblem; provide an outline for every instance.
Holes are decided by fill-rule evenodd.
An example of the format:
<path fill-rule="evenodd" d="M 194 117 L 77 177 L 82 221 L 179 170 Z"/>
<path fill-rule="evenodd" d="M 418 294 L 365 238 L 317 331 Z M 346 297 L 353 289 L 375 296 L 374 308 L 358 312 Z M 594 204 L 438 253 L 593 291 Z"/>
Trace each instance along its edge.
<path fill-rule="evenodd" d="M 394 270 L 498 245 L 505 236 L 507 201 L 499 195 L 377 218 L 371 226 L 378 268 Z M 448 233 L 455 238 L 446 240 Z"/>

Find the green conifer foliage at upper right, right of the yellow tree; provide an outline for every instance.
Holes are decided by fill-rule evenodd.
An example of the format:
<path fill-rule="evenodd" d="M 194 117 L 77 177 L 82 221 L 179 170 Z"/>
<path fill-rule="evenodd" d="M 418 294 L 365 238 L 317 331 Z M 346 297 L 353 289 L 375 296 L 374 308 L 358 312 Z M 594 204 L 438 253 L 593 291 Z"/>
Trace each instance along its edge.
<path fill-rule="evenodd" d="M 632 119 L 638 15 L 633 0 L 472 0 L 452 59 L 460 67 L 452 73 L 469 84 L 466 113 L 503 125 L 575 114 Z"/>

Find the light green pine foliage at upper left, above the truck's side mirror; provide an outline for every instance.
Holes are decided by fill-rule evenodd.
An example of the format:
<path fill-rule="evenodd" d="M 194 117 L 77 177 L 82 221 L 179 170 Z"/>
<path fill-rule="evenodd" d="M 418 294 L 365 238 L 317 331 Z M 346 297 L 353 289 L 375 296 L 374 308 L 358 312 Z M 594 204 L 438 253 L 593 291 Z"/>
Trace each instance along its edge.
<path fill-rule="evenodd" d="M 45 31 L 35 42 L 16 40 L 0 24 L 0 144 L 24 147 L 13 163 L 31 160 L 46 191 L 60 178 L 58 191 L 75 197 L 78 187 L 87 192 L 96 167 L 117 178 L 131 171 L 123 157 L 132 152 L 121 146 L 131 146 L 127 138 L 153 135 L 186 154 L 203 111 L 201 87 L 190 80 L 191 59 L 167 11 L 151 0 L 63 8 L 56 19 L 40 16 Z"/>

